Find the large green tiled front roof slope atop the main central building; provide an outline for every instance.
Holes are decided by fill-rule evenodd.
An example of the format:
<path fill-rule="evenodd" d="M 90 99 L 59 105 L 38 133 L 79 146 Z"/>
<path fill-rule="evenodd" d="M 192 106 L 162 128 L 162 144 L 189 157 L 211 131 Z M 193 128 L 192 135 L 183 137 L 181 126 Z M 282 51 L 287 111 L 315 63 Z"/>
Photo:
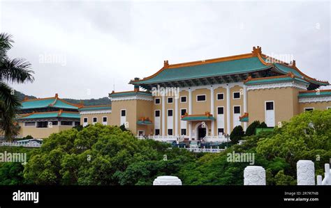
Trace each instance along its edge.
<path fill-rule="evenodd" d="M 270 66 L 263 65 L 263 63 L 261 63 L 257 57 L 242 58 L 233 61 L 222 61 L 217 63 L 206 63 L 203 65 L 169 68 L 163 70 L 151 79 L 147 79 L 145 81 L 137 81 L 135 84 L 216 77 L 228 74 L 255 72 L 258 70 L 265 70 L 267 68 L 270 68 Z"/>

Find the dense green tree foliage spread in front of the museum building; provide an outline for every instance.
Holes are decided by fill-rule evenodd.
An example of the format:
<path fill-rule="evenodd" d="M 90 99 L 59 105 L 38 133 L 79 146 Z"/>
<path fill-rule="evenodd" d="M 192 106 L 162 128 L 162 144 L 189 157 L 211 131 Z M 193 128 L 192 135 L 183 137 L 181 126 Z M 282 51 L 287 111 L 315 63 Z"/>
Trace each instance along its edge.
<path fill-rule="evenodd" d="M 119 127 L 89 125 L 52 134 L 39 149 L 6 147 L 27 151 L 29 161 L 25 166 L 0 163 L 0 182 L 150 185 L 159 175 L 176 175 L 187 185 L 242 185 L 249 162 L 230 162 L 228 154 L 249 152 L 254 154 L 253 165 L 265 168 L 267 184 L 294 185 L 298 160 L 314 161 L 316 175 L 322 175 L 329 162 L 331 110 L 302 113 L 281 128 L 243 139 L 243 145 L 229 145 L 221 153 L 196 154 L 137 139 Z"/>

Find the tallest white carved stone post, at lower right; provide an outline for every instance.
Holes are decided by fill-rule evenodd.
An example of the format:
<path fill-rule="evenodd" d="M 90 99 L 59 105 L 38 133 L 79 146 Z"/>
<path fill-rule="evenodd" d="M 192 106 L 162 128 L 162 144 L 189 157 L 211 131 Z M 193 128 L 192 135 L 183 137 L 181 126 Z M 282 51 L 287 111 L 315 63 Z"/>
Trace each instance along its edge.
<path fill-rule="evenodd" d="M 315 185 L 315 166 L 313 161 L 297 161 L 297 185 Z"/>

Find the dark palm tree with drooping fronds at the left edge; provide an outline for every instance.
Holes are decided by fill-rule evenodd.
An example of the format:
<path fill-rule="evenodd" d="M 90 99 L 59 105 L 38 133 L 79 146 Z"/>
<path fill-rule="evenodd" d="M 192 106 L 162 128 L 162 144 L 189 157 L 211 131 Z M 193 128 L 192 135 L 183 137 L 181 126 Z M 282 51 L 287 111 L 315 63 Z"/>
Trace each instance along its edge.
<path fill-rule="evenodd" d="M 20 102 L 8 83 L 33 82 L 34 71 L 24 58 L 8 58 L 7 51 L 13 46 L 12 35 L 0 33 L 0 131 L 6 138 L 17 134 L 15 115 Z"/>

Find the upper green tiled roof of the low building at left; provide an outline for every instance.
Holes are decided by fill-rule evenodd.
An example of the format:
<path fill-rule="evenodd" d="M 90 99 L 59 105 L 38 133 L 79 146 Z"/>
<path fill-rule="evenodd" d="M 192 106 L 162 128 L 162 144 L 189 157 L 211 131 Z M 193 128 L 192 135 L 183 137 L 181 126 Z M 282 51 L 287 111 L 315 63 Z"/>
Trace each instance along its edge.
<path fill-rule="evenodd" d="M 55 97 L 51 97 L 49 99 L 33 99 L 22 102 L 21 109 L 41 109 L 51 106 L 55 101 Z M 71 104 L 67 104 L 66 102 L 61 101 L 61 99 L 57 99 L 57 102 L 52 106 L 58 109 L 78 109 L 77 106 L 73 106 Z"/>

